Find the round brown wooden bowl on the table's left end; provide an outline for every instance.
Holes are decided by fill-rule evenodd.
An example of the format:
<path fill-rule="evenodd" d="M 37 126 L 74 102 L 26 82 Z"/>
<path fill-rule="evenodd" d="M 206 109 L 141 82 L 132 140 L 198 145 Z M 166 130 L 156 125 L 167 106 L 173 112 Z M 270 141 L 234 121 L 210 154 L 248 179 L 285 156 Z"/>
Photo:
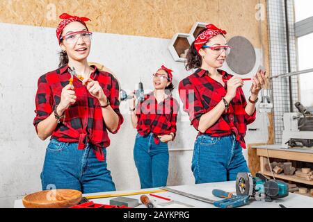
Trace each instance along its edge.
<path fill-rule="evenodd" d="M 66 208 L 81 201 L 81 191 L 74 189 L 51 189 L 24 196 L 26 208 Z"/>

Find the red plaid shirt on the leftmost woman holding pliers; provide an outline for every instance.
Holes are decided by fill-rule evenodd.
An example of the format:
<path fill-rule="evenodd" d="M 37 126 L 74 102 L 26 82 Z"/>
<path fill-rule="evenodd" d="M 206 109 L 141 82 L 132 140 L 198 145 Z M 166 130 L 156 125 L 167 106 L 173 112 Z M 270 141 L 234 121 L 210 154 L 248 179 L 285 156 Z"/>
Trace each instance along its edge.
<path fill-rule="evenodd" d="M 60 69 L 50 71 L 38 80 L 38 90 L 35 96 L 36 116 L 33 120 L 36 131 L 38 123 L 49 117 L 54 112 L 55 106 L 61 101 L 61 91 L 65 85 L 69 84 L 71 78 L 67 68 L 68 66 L 65 65 Z M 99 82 L 111 103 L 111 107 L 118 114 L 117 130 L 111 132 L 108 129 L 111 133 L 117 133 L 123 122 L 119 110 L 118 81 L 108 72 L 99 71 L 95 66 L 93 68 L 95 71 L 90 75 L 90 78 Z M 76 103 L 65 110 L 65 119 L 56 126 L 51 139 L 57 139 L 60 142 L 79 142 L 79 149 L 86 148 L 87 143 L 93 144 L 97 159 L 104 161 L 102 148 L 110 145 L 110 139 L 102 117 L 102 108 L 98 99 L 91 96 L 86 86 L 83 86 L 76 77 L 74 77 L 73 85 L 77 96 Z"/>

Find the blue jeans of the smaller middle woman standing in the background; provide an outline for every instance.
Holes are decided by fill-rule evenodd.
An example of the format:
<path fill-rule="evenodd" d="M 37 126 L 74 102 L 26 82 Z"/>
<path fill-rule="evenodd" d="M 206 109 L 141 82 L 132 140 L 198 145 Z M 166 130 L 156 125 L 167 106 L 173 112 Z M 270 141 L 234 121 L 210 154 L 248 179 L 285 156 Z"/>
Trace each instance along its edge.
<path fill-rule="evenodd" d="M 154 143 L 154 136 L 136 135 L 134 160 L 141 189 L 166 186 L 168 180 L 168 144 Z"/>

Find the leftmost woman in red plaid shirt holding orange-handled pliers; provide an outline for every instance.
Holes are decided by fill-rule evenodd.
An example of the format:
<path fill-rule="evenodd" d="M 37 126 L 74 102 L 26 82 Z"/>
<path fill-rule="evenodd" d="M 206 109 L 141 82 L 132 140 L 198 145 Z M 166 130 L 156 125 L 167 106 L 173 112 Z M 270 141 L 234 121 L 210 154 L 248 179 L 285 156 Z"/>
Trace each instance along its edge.
<path fill-rule="evenodd" d="M 110 145 L 107 130 L 117 133 L 123 121 L 118 81 L 88 65 L 92 33 L 85 22 L 89 19 L 65 13 L 60 18 L 56 29 L 60 65 L 39 78 L 35 96 L 36 132 L 42 140 L 51 136 L 42 189 L 112 191 L 106 147 Z"/>

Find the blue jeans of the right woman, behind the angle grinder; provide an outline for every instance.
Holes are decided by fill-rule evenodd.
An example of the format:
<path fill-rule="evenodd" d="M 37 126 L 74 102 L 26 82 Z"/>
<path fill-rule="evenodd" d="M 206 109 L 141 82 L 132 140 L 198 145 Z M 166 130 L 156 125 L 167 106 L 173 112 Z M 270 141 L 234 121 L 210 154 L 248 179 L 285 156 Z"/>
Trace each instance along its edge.
<path fill-rule="evenodd" d="M 236 180 L 237 173 L 250 172 L 234 135 L 198 136 L 193 149 L 191 170 L 196 184 Z"/>

